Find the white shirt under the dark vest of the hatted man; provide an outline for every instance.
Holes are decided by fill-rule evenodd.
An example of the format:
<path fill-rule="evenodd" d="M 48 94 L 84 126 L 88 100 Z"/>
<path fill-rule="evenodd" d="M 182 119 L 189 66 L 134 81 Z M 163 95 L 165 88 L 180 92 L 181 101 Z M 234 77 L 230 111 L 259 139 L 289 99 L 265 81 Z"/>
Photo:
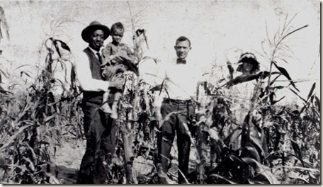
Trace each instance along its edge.
<path fill-rule="evenodd" d="M 96 55 L 97 51 L 89 47 L 90 50 Z M 98 55 L 96 55 L 98 58 Z M 75 72 L 77 74 L 77 79 L 83 91 L 107 91 L 109 82 L 101 81 L 92 78 L 92 72 L 90 69 L 89 57 L 85 52 L 79 52 L 75 57 Z"/>

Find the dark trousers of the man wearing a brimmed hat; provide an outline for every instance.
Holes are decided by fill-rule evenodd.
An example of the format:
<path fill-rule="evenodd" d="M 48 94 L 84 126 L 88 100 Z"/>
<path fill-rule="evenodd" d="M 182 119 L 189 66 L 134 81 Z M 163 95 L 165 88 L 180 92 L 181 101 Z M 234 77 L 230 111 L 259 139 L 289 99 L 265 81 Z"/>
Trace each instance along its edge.
<path fill-rule="evenodd" d="M 113 118 L 98 110 L 100 102 L 83 101 L 86 151 L 81 161 L 77 183 L 103 184 L 116 146 L 117 125 Z"/>

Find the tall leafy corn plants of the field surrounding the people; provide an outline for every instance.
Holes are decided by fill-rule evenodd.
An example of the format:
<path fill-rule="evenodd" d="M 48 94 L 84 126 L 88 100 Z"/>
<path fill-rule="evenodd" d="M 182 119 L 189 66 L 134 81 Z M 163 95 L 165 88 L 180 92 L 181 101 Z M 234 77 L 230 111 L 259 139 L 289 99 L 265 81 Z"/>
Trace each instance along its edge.
<path fill-rule="evenodd" d="M 137 39 L 135 31 L 139 28 L 135 16 L 131 23 Z M 236 118 L 235 114 L 242 109 L 234 108 L 237 99 L 227 94 L 227 87 L 219 86 L 216 81 L 197 86 L 199 99 L 195 131 L 189 133 L 193 148 L 187 183 L 321 183 L 321 103 L 314 94 L 316 85 L 312 84 L 307 98 L 302 98 L 297 82 L 290 77 L 288 69 L 280 65 L 283 60 L 279 54 L 288 52 L 285 38 L 307 27 L 295 29 L 291 26 L 292 21 L 293 18 L 288 20 L 286 17 L 283 29 L 273 39 L 266 38 L 266 44 L 271 48 L 271 52 L 263 52 L 270 61 L 268 71 L 238 77 L 225 85 L 234 87 L 256 80 L 251 107 L 242 118 Z M 74 183 L 77 176 L 77 169 L 67 175 L 64 169 L 68 164 L 62 166 L 56 162 L 60 157 L 57 152 L 67 143 L 77 147 L 84 142 L 81 91 L 74 69 L 68 88 L 64 87 L 67 83 L 56 79 L 53 73 L 57 65 L 64 69 L 66 63 L 72 64 L 72 57 L 66 59 L 62 55 L 71 50 L 60 38 L 49 37 L 43 45 L 47 49 L 45 68 L 39 67 L 40 74 L 31 86 L 20 93 L 14 93 L 14 85 L 8 85 L 8 89 L 0 87 L 0 181 L 4 184 Z M 144 60 L 159 63 L 143 56 L 137 43 L 133 50 L 138 67 Z M 19 72 L 22 68 L 11 74 L 29 77 L 27 72 Z M 8 77 L 8 73 L 1 70 L 0 77 Z M 279 85 L 278 77 L 286 79 L 289 85 Z M 126 89 L 118 108 L 118 146 L 112 163 L 104 163 L 108 169 L 106 183 L 156 184 L 159 183 L 155 163 L 157 133 L 168 119 L 167 116 L 157 118 L 159 108 L 154 103 L 163 91 L 163 84 L 149 85 L 147 80 L 132 73 L 126 74 L 125 79 Z M 57 84 L 64 90 L 60 96 L 53 91 Z M 276 99 L 275 94 L 282 89 L 292 91 L 303 105 L 280 105 L 282 98 Z M 239 134 L 233 140 L 232 135 L 237 132 Z M 233 145 L 233 142 L 238 143 Z M 176 145 L 173 151 L 172 155 L 176 155 Z M 166 174 L 169 183 L 176 183 L 178 178 L 176 159 L 174 156 Z"/>

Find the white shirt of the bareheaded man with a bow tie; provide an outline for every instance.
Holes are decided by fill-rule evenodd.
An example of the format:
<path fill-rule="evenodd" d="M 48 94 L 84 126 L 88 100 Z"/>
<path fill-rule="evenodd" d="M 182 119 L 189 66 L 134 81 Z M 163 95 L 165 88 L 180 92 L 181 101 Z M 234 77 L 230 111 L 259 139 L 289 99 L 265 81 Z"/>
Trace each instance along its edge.
<path fill-rule="evenodd" d="M 161 69 L 166 84 L 165 98 L 189 100 L 196 98 L 198 81 L 205 81 L 202 72 L 194 66 L 190 58 L 186 64 L 177 64 L 177 58 L 164 64 Z M 168 95 L 167 95 L 168 94 Z"/>

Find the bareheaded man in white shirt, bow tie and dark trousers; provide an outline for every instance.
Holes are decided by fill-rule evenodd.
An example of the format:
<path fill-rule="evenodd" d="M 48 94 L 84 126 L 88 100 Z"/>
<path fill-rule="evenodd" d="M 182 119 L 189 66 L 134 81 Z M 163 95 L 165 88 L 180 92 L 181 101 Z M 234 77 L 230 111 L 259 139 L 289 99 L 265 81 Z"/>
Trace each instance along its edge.
<path fill-rule="evenodd" d="M 195 118 L 196 88 L 198 81 L 203 81 L 193 62 L 188 58 L 191 50 L 191 41 L 181 36 L 176 40 L 175 51 L 177 58 L 164 67 L 164 87 L 166 95 L 162 101 L 161 113 L 165 118 L 173 113 L 160 128 L 158 135 L 158 162 L 162 165 L 164 174 L 169 168 L 171 146 L 174 141 L 175 131 L 177 133 L 177 145 L 179 148 L 179 169 L 186 176 L 190 156 L 191 140 L 188 131 L 193 127 Z M 186 125 L 186 127 L 185 127 Z M 183 175 L 179 172 L 179 183 L 185 183 Z M 164 179 L 159 177 L 160 183 Z"/>

